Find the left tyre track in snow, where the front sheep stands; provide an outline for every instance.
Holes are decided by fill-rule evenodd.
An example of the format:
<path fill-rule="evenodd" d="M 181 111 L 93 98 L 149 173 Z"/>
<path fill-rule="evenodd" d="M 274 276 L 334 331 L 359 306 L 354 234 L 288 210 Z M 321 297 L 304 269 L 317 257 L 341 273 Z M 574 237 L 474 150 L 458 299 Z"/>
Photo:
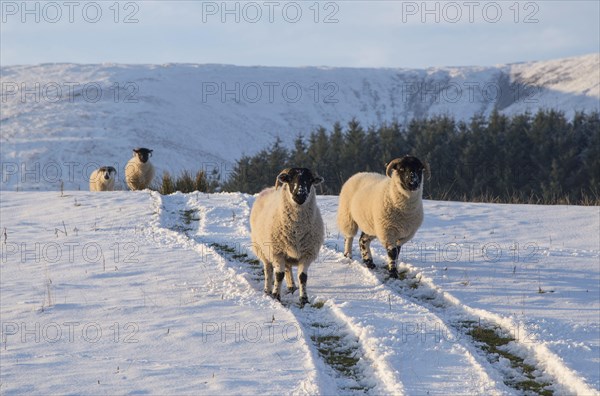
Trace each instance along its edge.
<path fill-rule="evenodd" d="M 263 295 L 262 264 L 248 255 L 250 200 L 251 197 L 240 194 L 213 195 L 206 199 L 210 205 L 205 206 L 198 196 L 190 195 L 186 207 L 201 214 L 194 240 L 219 251 L 230 262 L 230 268 L 235 267 L 236 273 L 242 275 L 258 295 Z M 304 338 L 313 346 L 316 365 L 332 378 L 336 394 L 404 393 L 394 370 L 369 347 L 360 326 L 345 316 L 334 301 L 317 299 L 310 306 L 299 308 L 297 298 L 297 293 L 284 295 L 282 304 L 300 324 Z M 370 343 L 375 344 L 376 340 Z"/>

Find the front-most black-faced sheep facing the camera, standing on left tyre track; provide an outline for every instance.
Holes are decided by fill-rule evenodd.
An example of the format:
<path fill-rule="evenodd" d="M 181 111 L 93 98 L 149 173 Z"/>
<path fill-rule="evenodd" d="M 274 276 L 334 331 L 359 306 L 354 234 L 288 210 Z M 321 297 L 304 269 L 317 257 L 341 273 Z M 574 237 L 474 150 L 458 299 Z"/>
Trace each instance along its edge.
<path fill-rule="evenodd" d="M 284 169 L 277 176 L 275 187 L 263 190 L 252 206 L 252 249 L 263 262 L 264 291 L 277 300 L 281 300 L 284 275 L 288 292 L 296 290 L 292 266 L 298 266 L 300 305 L 308 302 L 308 267 L 317 258 L 324 241 L 323 219 L 313 188 L 322 182 L 323 178 L 309 169 Z"/>

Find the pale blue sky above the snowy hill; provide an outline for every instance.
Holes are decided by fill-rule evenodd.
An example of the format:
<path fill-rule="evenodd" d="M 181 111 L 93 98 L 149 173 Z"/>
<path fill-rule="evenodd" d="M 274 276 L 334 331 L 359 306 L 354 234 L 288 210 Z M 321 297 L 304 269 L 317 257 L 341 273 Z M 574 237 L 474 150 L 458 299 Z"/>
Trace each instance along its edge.
<path fill-rule="evenodd" d="M 598 1 L 0 1 L 0 65 L 491 66 L 600 52 Z"/>

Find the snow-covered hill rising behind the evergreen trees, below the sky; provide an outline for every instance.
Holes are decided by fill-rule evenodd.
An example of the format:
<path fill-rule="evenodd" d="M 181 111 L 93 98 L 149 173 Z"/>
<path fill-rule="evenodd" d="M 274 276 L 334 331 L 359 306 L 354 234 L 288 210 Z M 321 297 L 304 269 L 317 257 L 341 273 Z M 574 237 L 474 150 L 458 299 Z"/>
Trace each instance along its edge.
<path fill-rule="evenodd" d="M 226 65 L 44 64 L 1 69 L 2 185 L 87 189 L 99 165 L 122 170 L 131 149 L 162 170 L 216 168 L 279 136 L 433 114 L 468 119 L 600 108 L 600 55 L 498 67 L 427 70 Z"/>

